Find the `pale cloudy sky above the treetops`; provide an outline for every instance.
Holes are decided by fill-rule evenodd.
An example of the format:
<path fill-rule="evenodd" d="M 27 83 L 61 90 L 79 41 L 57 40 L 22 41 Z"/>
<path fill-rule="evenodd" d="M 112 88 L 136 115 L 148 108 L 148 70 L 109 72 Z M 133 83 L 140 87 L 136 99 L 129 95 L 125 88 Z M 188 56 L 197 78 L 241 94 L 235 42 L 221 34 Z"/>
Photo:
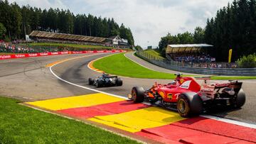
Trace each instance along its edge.
<path fill-rule="evenodd" d="M 167 33 L 193 33 L 196 26 L 204 28 L 207 18 L 233 0 L 16 0 L 20 6 L 29 4 L 41 9 L 70 9 L 74 14 L 91 13 L 114 18 L 119 25 L 131 28 L 135 45 L 157 46 Z M 14 0 L 10 0 L 14 2 Z"/>

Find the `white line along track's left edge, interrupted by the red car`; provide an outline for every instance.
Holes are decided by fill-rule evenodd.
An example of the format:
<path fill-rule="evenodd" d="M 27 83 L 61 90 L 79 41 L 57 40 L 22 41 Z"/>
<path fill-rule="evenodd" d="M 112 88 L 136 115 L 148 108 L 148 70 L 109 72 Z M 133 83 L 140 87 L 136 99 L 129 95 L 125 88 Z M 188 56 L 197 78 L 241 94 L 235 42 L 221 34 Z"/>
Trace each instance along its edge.
<path fill-rule="evenodd" d="M 90 55 L 88 55 L 88 56 L 90 56 Z M 65 61 L 65 62 L 66 62 L 66 61 Z M 62 63 L 62 62 L 60 62 L 60 63 Z M 58 64 L 60 64 L 60 63 L 56 63 L 55 65 L 58 65 Z M 91 90 L 91 91 L 93 91 L 93 92 L 99 92 L 99 93 L 102 93 L 102 94 L 107 94 L 107 95 L 110 95 L 110 96 L 115 96 L 115 97 L 118 97 L 118 98 L 120 98 L 120 99 L 128 100 L 128 98 L 127 98 L 127 97 L 124 97 L 124 96 L 119 96 L 119 95 L 116 95 L 116 94 L 110 94 L 110 93 L 107 93 L 107 92 L 102 92 L 102 91 L 99 91 L 99 90 L 96 90 L 96 89 L 91 89 L 91 88 L 89 88 L 89 87 L 83 87 L 83 86 L 81 86 L 81 85 L 74 84 L 74 83 L 72 83 L 72 82 L 68 82 L 67 80 L 58 77 L 58 75 L 53 72 L 52 67 L 54 67 L 55 65 L 52 65 L 52 66 L 50 67 L 50 72 L 51 72 L 55 77 L 57 77 L 58 79 L 60 79 L 60 80 L 63 81 L 63 82 L 66 82 L 66 83 L 68 83 L 68 84 L 71 84 L 71 85 L 73 85 L 73 86 L 75 86 L 75 87 L 80 87 L 80 88 L 82 88 L 82 89 L 87 89 L 87 90 Z M 247 128 L 256 128 L 256 125 L 255 125 L 255 124 L 252 124 L 252 123 L 244 123 L 244 122 L 240 122 L 240 121 L 233 121 L 233 120 L 230 120 L 230 119 L 227 119 L 227 118 L 219 118 L 219 117 L 217 117 L 217 116 L 208 116 L 208 115 L 201 115 L 201 116 L 202 116 L 202 117 L 205 117 L 205 118 L 214 119 L 214 120 L 216 120 L 216 121 L 223 121 L 223 122 L 225 122 L 225 123 L 232 123 L 232 124 L 235 124 L 235 125 L 238 125 L 238 126 L 245 126 L 245 127 L 247 127 Z"/>

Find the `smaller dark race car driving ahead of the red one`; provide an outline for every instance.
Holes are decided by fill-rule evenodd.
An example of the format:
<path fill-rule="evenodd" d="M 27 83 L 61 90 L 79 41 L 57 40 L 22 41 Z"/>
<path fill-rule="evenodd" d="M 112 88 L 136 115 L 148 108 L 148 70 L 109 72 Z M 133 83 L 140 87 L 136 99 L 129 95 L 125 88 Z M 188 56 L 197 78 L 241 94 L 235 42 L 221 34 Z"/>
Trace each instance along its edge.
<path fill-rule="evenodd" d="M 110 74 L 102 74 L 101 77 L 96 79 L 89 78 L 89 85 L 94 85 L 95 87 L 114 87 L 122 86 L 122 79 L 117 76 L 110 76 Z"/>

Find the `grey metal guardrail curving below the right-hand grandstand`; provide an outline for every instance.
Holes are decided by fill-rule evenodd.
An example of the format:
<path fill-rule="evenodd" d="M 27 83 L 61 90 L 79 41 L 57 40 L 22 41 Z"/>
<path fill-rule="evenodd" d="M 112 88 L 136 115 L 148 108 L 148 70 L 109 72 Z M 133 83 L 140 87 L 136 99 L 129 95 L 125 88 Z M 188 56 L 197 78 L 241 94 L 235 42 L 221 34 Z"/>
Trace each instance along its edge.
<path fill-rule="evenodd" d="M 163 60 L 150 60 L 147 57 L 136 55 L 147 62 L 150 62 L 159 67 L 164 67 L 169 70 L 178 72 L 189 72 L 195 74 L 209 74 L 209 75 L 227 75 L 227 76 L 256 76 L 256 68 L 199 68 L 199 67 L 182 67 L 177 65 L 168 64 Z"/>

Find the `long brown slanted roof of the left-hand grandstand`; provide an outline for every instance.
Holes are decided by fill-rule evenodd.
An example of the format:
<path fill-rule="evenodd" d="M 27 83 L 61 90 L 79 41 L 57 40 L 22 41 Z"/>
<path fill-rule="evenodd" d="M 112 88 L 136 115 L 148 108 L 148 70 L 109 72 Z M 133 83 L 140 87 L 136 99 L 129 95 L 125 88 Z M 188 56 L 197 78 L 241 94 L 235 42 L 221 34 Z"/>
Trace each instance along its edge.
<path fill-rule="evenodd" d="M 32 31 L 30 38 L 54 39 L 54 40 L 75 40 L 80 42 L 103 43 L 109 38 L 99 38 L 85 35 L 71 35 L 65 33 L 50 33 L 46 31 Z"/>

